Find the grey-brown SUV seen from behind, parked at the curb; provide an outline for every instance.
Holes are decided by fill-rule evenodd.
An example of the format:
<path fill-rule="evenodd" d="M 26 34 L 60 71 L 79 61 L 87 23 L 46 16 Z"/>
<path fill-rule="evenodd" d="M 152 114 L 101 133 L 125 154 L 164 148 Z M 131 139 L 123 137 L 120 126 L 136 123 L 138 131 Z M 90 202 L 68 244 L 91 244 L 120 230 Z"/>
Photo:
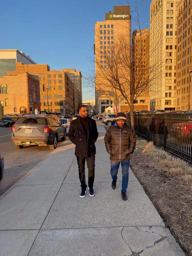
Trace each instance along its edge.
<path fill-rule="evenodd" d="M 57 147 L 57 141 L 66 140 L 66 127 L 55 115 L 26 115 L 18 117 L 11 128 L 11 140 L 16 148 L 24 145 Z"/>

